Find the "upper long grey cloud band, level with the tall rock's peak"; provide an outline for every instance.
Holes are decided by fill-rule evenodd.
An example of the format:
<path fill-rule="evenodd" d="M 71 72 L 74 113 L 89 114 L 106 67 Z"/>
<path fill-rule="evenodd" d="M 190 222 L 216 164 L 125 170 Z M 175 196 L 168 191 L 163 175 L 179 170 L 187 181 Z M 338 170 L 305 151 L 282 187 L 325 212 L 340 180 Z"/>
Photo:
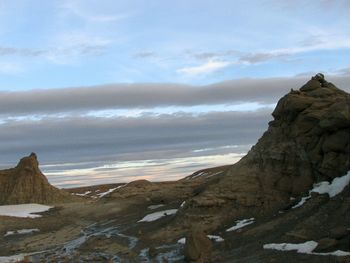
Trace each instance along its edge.
<path fill-rule="evenodd" d="M 327 76 L 339 88 L 350 89 L 349 75 Z M 105 109 L 196 106 L 257 102 L 276 103 L 310 76 L 238 79 L 208 86 L 180 84 L 111 84 L 93 87 L 0 92 L 0 115 L 52 114 Z"/>

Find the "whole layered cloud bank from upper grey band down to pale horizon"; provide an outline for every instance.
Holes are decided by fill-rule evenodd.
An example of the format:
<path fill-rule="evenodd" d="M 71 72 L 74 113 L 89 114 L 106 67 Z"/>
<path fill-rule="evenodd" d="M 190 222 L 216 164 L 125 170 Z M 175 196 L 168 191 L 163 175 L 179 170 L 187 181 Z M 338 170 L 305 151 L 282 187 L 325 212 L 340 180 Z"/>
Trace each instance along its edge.
<path fill-rule="evenodd" d="M 35 151 L 59 186 L 180 178 L 237 161 L 277 100 L 307 78 L 1 92 L 0 165 Z M 330 79 L 350 90 L 348 76 Z"/>

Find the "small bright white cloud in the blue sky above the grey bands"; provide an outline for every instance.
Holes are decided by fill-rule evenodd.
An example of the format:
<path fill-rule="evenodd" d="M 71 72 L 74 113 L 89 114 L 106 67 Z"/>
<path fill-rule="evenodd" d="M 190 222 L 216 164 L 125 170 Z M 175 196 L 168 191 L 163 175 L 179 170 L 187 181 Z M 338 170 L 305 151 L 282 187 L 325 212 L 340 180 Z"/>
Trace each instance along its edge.
<path fill-rule="evenodd" d="M 197 75 L 210 74 L 215 71 L 224 69 L 230 65 L 231 63 L 228 61 L 209 60 L 206 63 L 199 66 L 178 69 L 177 73 L 193 77 Z"/>

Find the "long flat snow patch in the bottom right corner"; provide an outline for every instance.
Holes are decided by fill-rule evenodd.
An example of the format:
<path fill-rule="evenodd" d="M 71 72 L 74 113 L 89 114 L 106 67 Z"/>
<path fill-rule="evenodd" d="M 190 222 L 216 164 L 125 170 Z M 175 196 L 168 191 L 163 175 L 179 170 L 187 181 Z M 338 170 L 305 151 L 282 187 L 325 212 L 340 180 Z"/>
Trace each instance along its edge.
<path fill-rule="evenodd" d="M 274 249 L 274 250 L 279 250 L 279 251 L 296 250 L 297 253 L 318 255 L 318 256 L 338 256 L 338 257 L 350 256 L 350 252 L 342 251 L 342 250 L 336 250 L 333 252 L 326 252 L 326 253 L 312 252 L 317 247 L 317 245 L 318 245 L 317 242 L 311 240 L 311 241 L 307 241 L 305 243 L 300 243 L 300 244 L 271 243 L 271 244 L 265 244 L 263 246 L 263 248 L 264 249 Z"/>

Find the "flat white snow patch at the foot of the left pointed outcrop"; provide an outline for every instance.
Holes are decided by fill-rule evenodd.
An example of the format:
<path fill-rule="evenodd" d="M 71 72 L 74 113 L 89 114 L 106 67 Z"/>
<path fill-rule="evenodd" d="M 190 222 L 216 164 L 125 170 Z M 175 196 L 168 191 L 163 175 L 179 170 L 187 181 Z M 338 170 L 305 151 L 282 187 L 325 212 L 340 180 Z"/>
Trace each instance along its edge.
<path fill-rule="evenodd" d="M 53 208 L 52 206 L 39 204 L 22 204 L 22 205 L 2 205 L 0 206 L 0 216 L 14 216 L 14 217 L 30 217 L 36 218 L 41 213 Z"/>

